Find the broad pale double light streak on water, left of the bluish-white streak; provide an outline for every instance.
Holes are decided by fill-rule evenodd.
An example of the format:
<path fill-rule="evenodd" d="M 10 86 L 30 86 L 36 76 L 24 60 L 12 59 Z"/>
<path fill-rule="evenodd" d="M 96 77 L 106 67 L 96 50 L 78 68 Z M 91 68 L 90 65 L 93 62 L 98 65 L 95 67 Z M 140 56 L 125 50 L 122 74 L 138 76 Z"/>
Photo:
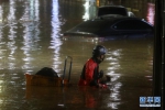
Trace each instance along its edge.
<path fill-rule="evenodd" d="M 33 62 L 35 62 L 35 56 L 33 56 L 34 51 L 40 50 L 38 47 L 38 41 L 40 41 L 40 18 L 38 18 L 38 0 L 31 0 L 30 7 L 29 3 L 25 4 L 25 12 L 22 20 L 22 26 L 23 30 L 23 45 L 21 50 L 23 51 L 24 57 L 22 61 L 24 62 L 24 65 L 22 66 L 22 69 L 25 69 L 28 73 L 33 72 Z M 29 11 L 30 13 L 28 13 Z M 36 22 L 35 22 L 36 21 Z"/>

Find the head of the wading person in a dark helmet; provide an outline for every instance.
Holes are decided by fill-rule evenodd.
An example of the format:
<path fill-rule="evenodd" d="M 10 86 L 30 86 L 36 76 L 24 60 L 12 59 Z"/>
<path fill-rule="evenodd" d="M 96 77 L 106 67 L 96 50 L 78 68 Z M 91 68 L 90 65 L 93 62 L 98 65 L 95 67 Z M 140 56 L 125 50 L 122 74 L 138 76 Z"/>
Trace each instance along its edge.
<path fill-rule="evenodd" d="M 92 50 L 92 57 L 97 59 L 98 63 L 101 63 L 105 59 L 105 54 L 107 50 L 102 45 L 96 45 Z"/>

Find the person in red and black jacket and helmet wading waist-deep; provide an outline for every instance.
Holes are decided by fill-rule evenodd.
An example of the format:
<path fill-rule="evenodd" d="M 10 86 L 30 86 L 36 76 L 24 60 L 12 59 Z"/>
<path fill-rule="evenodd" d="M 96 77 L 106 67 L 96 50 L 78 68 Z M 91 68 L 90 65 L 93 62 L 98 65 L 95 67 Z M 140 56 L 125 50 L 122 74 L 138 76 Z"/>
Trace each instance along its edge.
<path fill-rule="evenodd" d="M 99 64 L 103 62 L 107 50 L 102 45 L 96 45 L 92 50 L 92 57 L 84 65 L 78 86 L 91 86 L 107 88 L 100 79 L 103 77 L 103 70 L 99 70 Z"/>

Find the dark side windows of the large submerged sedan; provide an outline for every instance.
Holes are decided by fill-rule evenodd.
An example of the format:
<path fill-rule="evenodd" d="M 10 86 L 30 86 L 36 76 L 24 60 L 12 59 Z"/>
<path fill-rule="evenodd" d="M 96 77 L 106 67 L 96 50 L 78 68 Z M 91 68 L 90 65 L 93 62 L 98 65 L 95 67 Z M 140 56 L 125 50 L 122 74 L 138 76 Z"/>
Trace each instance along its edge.
<path fill-rule="evenodd" d="M 151 30 L 151 25 L 141 20 L 124 20 L 112 26 L 114 30 Z"/>

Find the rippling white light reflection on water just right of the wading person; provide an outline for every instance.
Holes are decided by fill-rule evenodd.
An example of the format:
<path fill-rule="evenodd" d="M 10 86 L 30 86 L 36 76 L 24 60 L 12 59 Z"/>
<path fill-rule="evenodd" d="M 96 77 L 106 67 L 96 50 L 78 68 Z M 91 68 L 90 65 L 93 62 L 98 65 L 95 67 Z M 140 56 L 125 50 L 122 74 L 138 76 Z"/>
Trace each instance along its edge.
<path fill-rule="evenodd" d="M 120 89 L 122 84 L 119 81 L 121 74 L 117 74 L 118 69 L 120 69 L 120 58 L 122 58 L 122 50 L 108 50 L 107 54 L 107 61 L 109 62 L 109 67 L 107 68 L 107 75 L 111 76 L 111 82 L 110 82 L 110 90 L 111 94 L 109 96 L 109 100 L 111 102 L 108 103 L 108 107 L 111 109 L 118 109 L 118 106 L 120 105 Z"/>

